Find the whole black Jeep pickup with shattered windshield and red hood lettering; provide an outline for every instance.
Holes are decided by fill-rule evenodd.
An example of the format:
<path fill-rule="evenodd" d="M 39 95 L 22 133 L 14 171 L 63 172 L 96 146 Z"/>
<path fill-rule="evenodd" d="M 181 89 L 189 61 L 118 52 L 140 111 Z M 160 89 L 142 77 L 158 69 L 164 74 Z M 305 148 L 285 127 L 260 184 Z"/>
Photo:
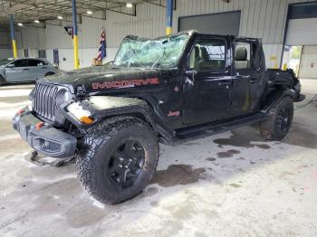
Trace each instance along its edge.
<path fill-rule="evenodd" d="M 266 70 L 261 40 L 195 31 L 127 36 L 113 62 L 36 82 L 14 128 L 45 156 L 76 157 L 97 200 L 139 194 L 158 165 L 159 141 L 259 124 L 280 140 L 303 100 L 293 71 Z"/>

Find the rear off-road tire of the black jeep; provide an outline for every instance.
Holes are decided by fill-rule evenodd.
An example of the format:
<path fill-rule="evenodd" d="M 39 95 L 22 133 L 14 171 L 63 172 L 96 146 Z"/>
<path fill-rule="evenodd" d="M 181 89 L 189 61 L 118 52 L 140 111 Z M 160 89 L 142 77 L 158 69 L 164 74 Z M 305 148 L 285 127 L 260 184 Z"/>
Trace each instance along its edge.
<path fill-rule="evenodd" d="M 279 128 L 279 116 L 282 111 L 286 111 L 287 122 L 284 129 Z M 291 128 L 293 121 L 293 100 L 291 97 L 284 97 L 280 100 L 274 108 L 269 111 L 269 119 L 265 120 L 260 124 L 261 137 L 266 140 L 282 140 Z"/>

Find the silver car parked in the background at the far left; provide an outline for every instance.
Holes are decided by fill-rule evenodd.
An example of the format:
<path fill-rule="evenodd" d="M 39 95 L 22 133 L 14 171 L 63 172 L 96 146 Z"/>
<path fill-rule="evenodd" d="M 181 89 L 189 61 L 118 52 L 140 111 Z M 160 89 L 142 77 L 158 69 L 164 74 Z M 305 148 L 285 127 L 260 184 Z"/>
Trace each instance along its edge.
<path fill-rule="evenodd" d="M 0 85 L 36 81 L 59 72 L 53 64 L 39 58 L 15 58 L 0 61 Z"/>

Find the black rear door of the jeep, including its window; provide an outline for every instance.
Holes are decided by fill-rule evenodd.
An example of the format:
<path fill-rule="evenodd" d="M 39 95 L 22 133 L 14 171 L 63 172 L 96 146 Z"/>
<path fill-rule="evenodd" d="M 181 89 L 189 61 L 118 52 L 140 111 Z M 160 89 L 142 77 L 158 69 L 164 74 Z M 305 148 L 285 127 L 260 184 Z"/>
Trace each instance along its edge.
<path fill-rule="evenodd" d="M 235 71 L 232 88 L 232 113 L 234 116 L 252 114 L 259 109 L 264 90 L 265 64 L 262 65 L 262 47 L 257 40 L 235 41 Z"/>

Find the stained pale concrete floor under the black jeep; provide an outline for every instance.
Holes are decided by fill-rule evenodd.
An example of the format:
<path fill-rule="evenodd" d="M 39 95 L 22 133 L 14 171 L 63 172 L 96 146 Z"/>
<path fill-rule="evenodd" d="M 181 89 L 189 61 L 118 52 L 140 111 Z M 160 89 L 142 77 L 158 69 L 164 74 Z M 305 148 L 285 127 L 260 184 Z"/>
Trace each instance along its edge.
<path fill-rule="evenodd" d="M 161 145 L 152 184 L 104 205 L 72 165 L 28 161 L 10 119 L 32 87 L 0 88 L 0 236 L 317 236 L 317 103 L 295 105 L 283 142 L 246 127 Z M 312 99 L 317 81 L 303 92 Z"/>

